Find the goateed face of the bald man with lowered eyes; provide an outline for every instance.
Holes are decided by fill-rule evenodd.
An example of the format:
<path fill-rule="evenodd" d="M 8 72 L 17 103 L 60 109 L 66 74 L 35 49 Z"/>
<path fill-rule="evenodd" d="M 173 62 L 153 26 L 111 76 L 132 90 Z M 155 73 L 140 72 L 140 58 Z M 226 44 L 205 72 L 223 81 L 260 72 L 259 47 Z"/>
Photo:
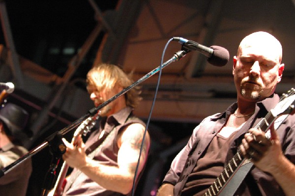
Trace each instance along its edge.
<path fill-rule="evenodd" d="M 270 96 L 280 82 L 284 64 L 274 47 L 243 45 L 234 57 L 234 80 L 238 97 L 260 101 Z"/>

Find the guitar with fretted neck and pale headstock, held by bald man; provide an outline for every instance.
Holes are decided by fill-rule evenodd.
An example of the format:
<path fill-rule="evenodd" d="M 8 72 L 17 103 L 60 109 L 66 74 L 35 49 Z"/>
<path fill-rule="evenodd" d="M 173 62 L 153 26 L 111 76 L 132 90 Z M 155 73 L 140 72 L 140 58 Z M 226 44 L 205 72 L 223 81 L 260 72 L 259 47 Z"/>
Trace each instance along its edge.
<path fill-rule="evenodd" d="M 283 114 L 286 118 L 293 110 L 295 104 L 295 89 L 292 88 L 288 91 L 288 94 L 283 94 L 280 97 L 279 103 L 270 110 L 256 126 L 255 128 L 261 129 L 262 131 L 266 132 L 269 127 L 271 127 L 274 121 Z M 278 128 L 283 120 L 276 123 L 276 128 Z M 267 132 L 266 136 L 270 138 L 270 133 Z M 229 184 L 230 180 L 234 177 L 237 170 L 243 166 L 244 164 L 249 164 L 250 160 L 243 158 L 241 151 L 238 149 L 234 158 L 230 161 L 230 163 L 224 168 L 222 173 L 217 177 L 215 182 L 209 187 L 207 192 L 203 196 L 218 196 L 222 195 L 222 191 L 224 191 L 226 185 Z M 252 162 L 251 162 L 252 163 Z M 252 163 L 253 164 L 253 163 Z M 249 168 L 250 169 L 250 168 Z M 240 182 L 239 182 L 240 183 Z M 237 187 L 236 187 L 237 188 Z M 233 189 L 236 191 L 236 189 Z"/>

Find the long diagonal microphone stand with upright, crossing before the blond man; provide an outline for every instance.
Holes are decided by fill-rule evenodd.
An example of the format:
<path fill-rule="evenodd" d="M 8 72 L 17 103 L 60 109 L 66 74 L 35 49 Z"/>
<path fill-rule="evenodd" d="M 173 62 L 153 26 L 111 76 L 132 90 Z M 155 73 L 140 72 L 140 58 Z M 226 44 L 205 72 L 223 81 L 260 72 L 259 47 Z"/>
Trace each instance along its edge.
<path fill-rule="evenodd" d="M 131 84 L 130 86 L 128 86 L 126 88 L 124 88 L 118 94 L 114 95 L 109 100 L 107 100 L 104 103 L 102 103 L 101 105 L 99 105 L 97 108 L 90 109 L 87 114 L 83 115 L 82 117 L 80 117 L 79 119 L 77 119 L 76 121 L 74 121 L 72 124 L 68 125 L 67 127 L 63 128 L 59 132 L 56 132 L 56 133 L 52 134 L 43 143 L 41 143 L 37 147 L 35 147 L 32 150 L 30 150 L 23 157 L 19 158 L 18 160 L 16 160 L 12 164 L 6 166 L 5 168 L 2 168 L 0 170 L 0 178 L 3 175 L 7 174 L 12 169 L 14 169 L 17 166 L 19 166 L 22 162 L 26 161 L 27 159 L 29 159 L 30 157 L 32 157 L 33 155 L 35 155 L 36 153 L 38 153 L 39 151 L 41 151 L 42 149 L 44 149 L 45 147 L 50 146 L 53 149 L 51 152 L 52 152 L 52 154 L 55 157 L 53 158 L 53 163 L 51 164 L 50 169 L 48 171 L 49 173 L 47 174 L 47 177 L 46 177 L 46 178 L 48 178 L 46 181 L 48 181 L 48 183 L 50 183 L 50 184 L 49 185 L 45 185 L 43 187 L 43 190 L 42 190 L 42 196 L 46 196 L 48 194 L 48 191 L 52 188 L 52 183 L 53 183 L 54 177 L 55 177 L 54 176 L 55 175 L 55 169 L 57 168 L 57 165 L 58 165 L 58 162 L 59 162 L 58 160 L 61 157 L 61 155 L 66 151 L 65 146 L 64 146 L 64 144 L 63 144 L 63 142 L 61 140 L 62 137 L 60 137 L 60 136 L 65 135 L 70 130 L 72 130 L 73 128 L 77 127 L 79 124 L 81 124 L 89 116 L 95 115 L 101 108 L 105 107 L 110 102 L 112 102 L 115 99 L 117 99 L 119 96 L 125 94 L 128 90 L 130 90 L 134 86 L 136 86 L 136 85 L 144 82 L 149 77 L 151 77 L 152 75 L 154 75 L 155 73 L 157 73 L 161 68 L 166 67 L 167 65 L 169 65 L 170 63 L 172 63 L 174 61 L 180 60 L 183 56 L 185 56 L 189 52 L 190 52 L 190 50 L 183 50 L 183 49 L 181 49 L 180 51 L 178 51 L 177 53 L 175 53 L 174 56 L 172 56 L 169 60 L 167 60 L 166 62 L 164 62 L 159 67 L 155 68 L 154 70 L 150 71 L 148 74 L 146 74 L 145 76 L 143 76 L 141 79 L 139 79 L 135 83 Z"/>

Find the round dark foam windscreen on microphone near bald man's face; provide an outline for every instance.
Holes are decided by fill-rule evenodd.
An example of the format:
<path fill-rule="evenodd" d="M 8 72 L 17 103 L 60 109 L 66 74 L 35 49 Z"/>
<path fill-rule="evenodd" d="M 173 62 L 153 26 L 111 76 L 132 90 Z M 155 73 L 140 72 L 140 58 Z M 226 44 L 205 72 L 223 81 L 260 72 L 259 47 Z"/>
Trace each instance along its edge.
<path fill-rule="evenodd" d="M 207 61 L 210 64 L 218 67 L 226 65 L 230 59 L 229 51 L 220 46 L 211 46 L 210 48 L 213 49 L 213 54 L 207 59 Z"/>

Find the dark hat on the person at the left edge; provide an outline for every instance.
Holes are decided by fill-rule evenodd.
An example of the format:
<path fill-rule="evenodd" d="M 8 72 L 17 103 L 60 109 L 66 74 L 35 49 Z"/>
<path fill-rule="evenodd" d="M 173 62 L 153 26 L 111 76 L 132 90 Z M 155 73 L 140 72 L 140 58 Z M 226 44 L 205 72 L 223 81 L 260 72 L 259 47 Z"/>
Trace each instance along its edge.
<path fill-rule="evenodd" d="M 0 109 L 0 119 L 6 124 L 12 136 L 20 134 L 20 131 L 24 130 L 29 114 L 23 108 L 7 103 L 2 109 Z"/>

